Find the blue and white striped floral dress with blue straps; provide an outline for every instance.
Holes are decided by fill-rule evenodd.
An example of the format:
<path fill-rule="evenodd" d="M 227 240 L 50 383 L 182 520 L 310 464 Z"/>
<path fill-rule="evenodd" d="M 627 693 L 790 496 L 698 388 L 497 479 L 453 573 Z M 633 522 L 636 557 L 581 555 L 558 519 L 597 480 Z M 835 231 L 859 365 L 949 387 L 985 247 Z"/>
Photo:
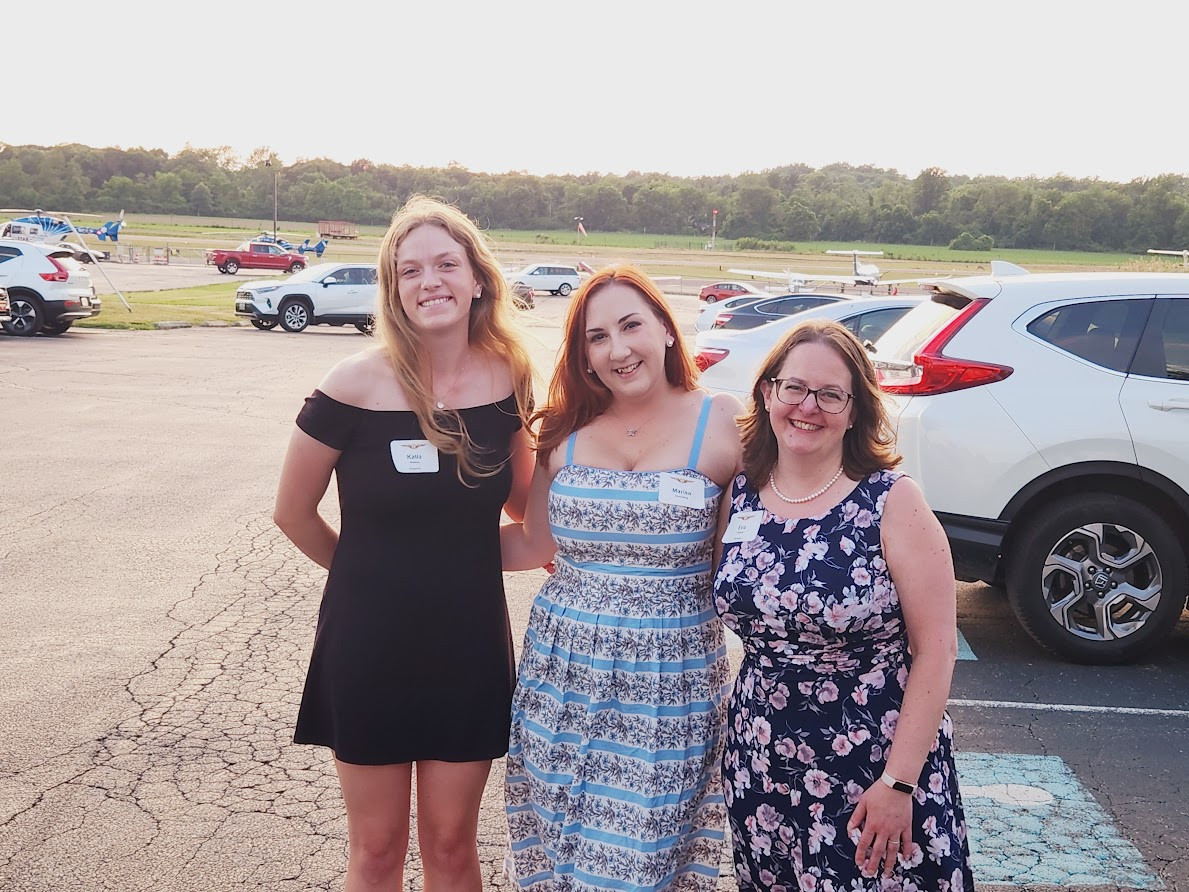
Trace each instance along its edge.
<path fill-rule="evenodd" d="M 729 666 L 711 602 L 721 489 L 693 470 L 566 464 L 549 489 L 556 572 L 529 616 L 508 750 L 508 873 L 526 890 L 713 890 Z"/>

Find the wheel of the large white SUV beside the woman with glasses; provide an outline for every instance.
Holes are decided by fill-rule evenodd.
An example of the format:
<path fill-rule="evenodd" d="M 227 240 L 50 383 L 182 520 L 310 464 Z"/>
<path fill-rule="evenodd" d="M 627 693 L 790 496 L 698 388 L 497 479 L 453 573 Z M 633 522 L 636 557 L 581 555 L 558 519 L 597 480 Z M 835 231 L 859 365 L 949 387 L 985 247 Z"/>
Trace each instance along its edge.
<path fill-rule="evenodd" d="M 1042 510 L 1019 536 L 1007 597 L 1042 646 L 1075 662 L 1151 655 L 1185 607 L 1185 547 L 1151 508 L 1076 496 Z"/>

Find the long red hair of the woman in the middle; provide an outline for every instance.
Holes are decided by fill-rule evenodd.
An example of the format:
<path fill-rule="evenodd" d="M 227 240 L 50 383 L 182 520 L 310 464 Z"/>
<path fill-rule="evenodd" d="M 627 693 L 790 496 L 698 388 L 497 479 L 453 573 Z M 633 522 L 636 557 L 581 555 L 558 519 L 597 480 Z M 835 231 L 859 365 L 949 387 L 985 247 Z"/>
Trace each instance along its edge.
<path fill-rule="evenodd" d="M 574 291 L 566 313 L 565 335 L 561 356 L 549 381 L 548 398 L 533 414 L 533 422 L 540 421 L 536 450 L 547 456 L 556 448 L 571 432 L 585 427 L 602 415 L 611 404 L 611 391 L 586 371 L 586 306 L 591 297 L 611 283 L 629 285 L 640 293 L 644 303 L 673 335 L 673 346 L 665 351 L 665 378 L 673 387 L 696 390 L 698 368 L 686 350 L 681 331 L 668 301 L 656 283 L 637 266 L 608 266 L 591 276 Z"/>

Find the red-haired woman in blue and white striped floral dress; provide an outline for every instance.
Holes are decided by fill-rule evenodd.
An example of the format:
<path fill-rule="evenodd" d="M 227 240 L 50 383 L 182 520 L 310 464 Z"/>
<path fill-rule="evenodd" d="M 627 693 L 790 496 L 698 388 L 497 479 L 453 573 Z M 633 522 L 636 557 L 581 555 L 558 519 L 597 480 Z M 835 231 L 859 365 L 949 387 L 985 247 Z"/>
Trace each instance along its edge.
<path fill-rule="evenodd" d="M 508 748 L 517 887 L 660 892 L 718 881 L 729 666 L 711 598 L 737 400 L 697 370 L 652 281 L 572 299 L 504 569 L 556 572 L 533 603 Z"/>

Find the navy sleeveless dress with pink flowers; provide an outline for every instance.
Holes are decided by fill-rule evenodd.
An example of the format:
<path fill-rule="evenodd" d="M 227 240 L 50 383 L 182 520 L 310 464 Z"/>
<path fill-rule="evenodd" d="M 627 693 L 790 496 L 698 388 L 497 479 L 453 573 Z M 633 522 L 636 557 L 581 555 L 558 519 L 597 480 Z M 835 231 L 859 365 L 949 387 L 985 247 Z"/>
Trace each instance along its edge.
<path fill-rule="evenodd" d="M 973 892 L 965 817 L 944 715 L 917 779 L 912 850 L 889 879 L 864 878 L 847 822 L 883 773 L 911 657 L 883 561 L 880 471 L 819 517 L 765 510 L 741 475 L 731 514 L 765 511 L 724 546 L 715 599 L 744 657 L 726 721 L 723 781 L 740 888 Z"/>

